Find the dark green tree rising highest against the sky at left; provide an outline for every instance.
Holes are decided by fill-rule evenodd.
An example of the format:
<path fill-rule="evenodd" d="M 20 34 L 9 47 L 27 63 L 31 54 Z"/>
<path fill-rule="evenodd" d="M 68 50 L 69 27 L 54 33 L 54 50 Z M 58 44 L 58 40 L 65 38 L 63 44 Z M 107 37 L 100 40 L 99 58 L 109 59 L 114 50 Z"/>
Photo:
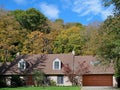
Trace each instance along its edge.
<path fill-rule="evenodd" d="M 16 20 L 23 28 L 34 31 L 39 30 L 41 32 L 49 33 L 49 27 L 47 27 L 47 18 L 35 8 L 30 8 L 26 11 L 15 10 L 12 11 Z"/>

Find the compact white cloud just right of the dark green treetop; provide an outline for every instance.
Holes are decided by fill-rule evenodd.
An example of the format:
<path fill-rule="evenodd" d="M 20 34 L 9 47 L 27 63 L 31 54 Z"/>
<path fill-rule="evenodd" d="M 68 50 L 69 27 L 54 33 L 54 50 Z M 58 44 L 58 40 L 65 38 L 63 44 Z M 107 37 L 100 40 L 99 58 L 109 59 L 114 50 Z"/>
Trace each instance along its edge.
<path fill-rule="evenodd" d="M 49 19 L 59 18 L 60 11 L 55 5 L 40 3 L 40 9 Z"/>

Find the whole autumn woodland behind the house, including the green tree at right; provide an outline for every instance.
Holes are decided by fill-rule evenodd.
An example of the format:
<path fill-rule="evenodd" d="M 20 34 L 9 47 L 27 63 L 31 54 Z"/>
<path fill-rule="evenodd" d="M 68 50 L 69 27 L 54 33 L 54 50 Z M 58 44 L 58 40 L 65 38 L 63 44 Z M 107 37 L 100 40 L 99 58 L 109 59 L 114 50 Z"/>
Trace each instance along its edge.
<path fill-rule="evenodd" d="M 113 4 L 114 15 L 104 22 L 88 25 L 65 23 L 62 19 L 49 20 L 35 8 L 5 10 L 0 8 L 0 62 L 11 62 L 16 55 L 59 54 L 93 55 L 103 63 L 114 63 L 120 77 L 120 3 Z"/>

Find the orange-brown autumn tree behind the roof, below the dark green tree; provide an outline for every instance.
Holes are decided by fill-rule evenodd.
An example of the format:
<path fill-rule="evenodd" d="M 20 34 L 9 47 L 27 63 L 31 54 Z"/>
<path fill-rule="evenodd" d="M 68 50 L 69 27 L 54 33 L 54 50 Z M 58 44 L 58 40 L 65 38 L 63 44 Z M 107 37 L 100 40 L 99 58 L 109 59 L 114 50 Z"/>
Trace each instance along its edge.
<path fill-rule="evenodd" d="M 33 31 L 27 34 L 23 42 L 22 54 L 41 54 L 51 53 L 51 41 L 47 37 L 48 34 L 40 31 Z"/>

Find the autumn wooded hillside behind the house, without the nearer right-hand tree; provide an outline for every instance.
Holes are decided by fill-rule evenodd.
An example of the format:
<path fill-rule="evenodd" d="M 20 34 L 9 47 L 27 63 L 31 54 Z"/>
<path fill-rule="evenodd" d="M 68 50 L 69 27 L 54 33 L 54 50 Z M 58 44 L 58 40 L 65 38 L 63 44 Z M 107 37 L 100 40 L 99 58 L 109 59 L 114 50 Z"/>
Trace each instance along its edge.
<path fill-rule="evenodd" d="M 100 22 L 88 26 L 49 20 L 35 8 L 0 11 L 0 61 L 12 61 L 16 54 L 71 53 L 93 55 Z"/>

